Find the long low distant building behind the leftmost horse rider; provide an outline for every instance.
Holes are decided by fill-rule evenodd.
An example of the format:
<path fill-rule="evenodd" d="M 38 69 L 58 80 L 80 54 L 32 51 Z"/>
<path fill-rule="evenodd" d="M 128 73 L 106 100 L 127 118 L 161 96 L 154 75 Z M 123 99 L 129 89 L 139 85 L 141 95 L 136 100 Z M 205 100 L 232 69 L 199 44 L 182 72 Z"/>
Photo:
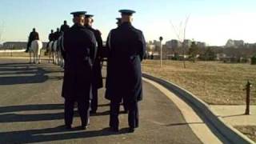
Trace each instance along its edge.
<path fill-rule="evenodd" d="M 27 42 L 4 42 L 2 49 L 26 49 Z M 42 42 L 42 46 L 46 47 L 47 42 Z"/>

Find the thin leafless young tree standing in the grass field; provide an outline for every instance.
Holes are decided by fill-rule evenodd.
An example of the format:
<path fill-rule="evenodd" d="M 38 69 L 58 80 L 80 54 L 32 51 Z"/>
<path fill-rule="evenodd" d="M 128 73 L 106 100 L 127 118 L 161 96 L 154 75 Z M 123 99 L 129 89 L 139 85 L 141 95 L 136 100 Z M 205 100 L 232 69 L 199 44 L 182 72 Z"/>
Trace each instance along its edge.
<path fill-rule="evenodd" d="M 183 66 L 186 68 L 185 63 L 185 46 L 184 46 L 184 40 L 186 39 L 186 26 L 189 22 L 190 14 L 186 17 L 185 23 L 183 25 L 183 22 L 180 22 L 180 26 L 177 28 L 174 26 L 174 23 L 170 21 L 171 26 L 174 29 L 174 33 L 176 34 L 176 37 L 178 38 L 178 41 L 182 42 L 182 54 L 183 54 Z"/>

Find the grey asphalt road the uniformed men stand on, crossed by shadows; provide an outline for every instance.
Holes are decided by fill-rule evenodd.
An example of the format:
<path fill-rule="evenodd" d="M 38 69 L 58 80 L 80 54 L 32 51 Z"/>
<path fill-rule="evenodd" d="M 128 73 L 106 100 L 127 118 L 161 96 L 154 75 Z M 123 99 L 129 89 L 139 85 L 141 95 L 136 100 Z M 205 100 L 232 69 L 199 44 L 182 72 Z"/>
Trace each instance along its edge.
<path fill-rule="evenodd" d="M 127 114 L 121 114 L 120 132 L 108 130 L 109 102 L 99 90 L 98 114 L 90 117 L 88 130 L 63 125 L 62 69 L 42 62 L 0 59 L 0 143 L 202 143 L 190 130 L 180 110 L 164 94 L 144 82 L 140 102 L 140 127 L 127 130 Z"/>

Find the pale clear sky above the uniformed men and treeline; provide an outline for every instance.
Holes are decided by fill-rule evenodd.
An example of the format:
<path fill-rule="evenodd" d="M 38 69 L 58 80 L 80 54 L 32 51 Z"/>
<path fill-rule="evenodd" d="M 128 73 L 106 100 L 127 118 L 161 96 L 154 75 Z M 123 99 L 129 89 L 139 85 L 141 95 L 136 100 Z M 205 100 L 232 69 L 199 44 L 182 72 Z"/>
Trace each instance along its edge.
<path fill-rule="evenodd" d="M 106 39 L 116 27 L 120 9 L 137 11 L 134 26 L 147 41 L 159 36 L 177 39 L 175 31 L 182 30 L 190 15 L 186 38 L 217 46 L 225 45 L 228 38 L 256 42 L 255 0 L 1 0 L 0 4 L 2 42 L 26 41 L 33 27 L 46 41 L 50 30 L 56 30 L 63 20 L 72 25 L 70 12 L 76 10 L 94 14 L 94 28 Z"/>

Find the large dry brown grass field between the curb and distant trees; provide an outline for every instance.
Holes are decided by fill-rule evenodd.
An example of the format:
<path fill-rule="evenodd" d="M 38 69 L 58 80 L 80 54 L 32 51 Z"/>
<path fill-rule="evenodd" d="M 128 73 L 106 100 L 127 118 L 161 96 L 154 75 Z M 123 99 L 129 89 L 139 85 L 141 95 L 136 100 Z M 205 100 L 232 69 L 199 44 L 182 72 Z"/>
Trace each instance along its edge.
<path fill-rule="evenodd" d="M 142 70 L 182 86 L 208 104 L 245 104 L 247 80 L 253 83 L 251 103 L 256 104 L 256 66 L 250 64 L 226 64 L 222 62 L 159 61 L 142 62 Z"/>

